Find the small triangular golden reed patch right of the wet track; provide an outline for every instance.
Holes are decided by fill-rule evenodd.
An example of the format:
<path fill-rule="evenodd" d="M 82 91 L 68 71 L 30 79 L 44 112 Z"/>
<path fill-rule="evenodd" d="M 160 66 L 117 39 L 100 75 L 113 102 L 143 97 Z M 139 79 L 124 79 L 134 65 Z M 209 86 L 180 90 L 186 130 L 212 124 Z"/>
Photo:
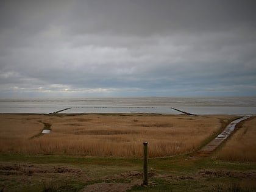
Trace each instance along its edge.
<path fill-rule="evenodd" d="M 238 124 L 240 127 L 234 135 L 227 141 L 221 151 L 216 154 L 220 160 L 232 161 L 256 161 L 256 117 L 247 119 L 244 123 Z"/>

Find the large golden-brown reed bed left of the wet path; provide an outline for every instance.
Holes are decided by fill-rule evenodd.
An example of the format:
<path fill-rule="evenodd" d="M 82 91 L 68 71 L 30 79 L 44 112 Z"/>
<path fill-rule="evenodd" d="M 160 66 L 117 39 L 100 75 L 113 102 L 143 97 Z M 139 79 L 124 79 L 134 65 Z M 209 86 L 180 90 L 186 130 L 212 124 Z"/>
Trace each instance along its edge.
<path fill-rule="evenodd" d="M 149 157 L 163 157 L 193 151 L 235 118 L 237 116 L 1 114 L 0 152 L 141 157 L 142 143 L 148 141 Z M 40 133 L 44 127 L 51 129 L 51 133 Z"/>

